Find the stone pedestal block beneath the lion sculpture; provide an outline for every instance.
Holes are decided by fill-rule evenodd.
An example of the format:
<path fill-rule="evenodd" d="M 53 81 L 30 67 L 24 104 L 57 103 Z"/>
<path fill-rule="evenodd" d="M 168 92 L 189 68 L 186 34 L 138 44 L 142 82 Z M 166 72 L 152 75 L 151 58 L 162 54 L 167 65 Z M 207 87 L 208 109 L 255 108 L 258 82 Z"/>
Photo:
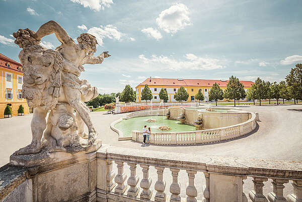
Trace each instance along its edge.
<path fill-rule="evenodd" d="M 101 142 L 99 142 L 101 143 Z M 97 201 L 97 160 L 93 152 L 12 155 L 10 164 L 27 167 L 33 202 Z"/>

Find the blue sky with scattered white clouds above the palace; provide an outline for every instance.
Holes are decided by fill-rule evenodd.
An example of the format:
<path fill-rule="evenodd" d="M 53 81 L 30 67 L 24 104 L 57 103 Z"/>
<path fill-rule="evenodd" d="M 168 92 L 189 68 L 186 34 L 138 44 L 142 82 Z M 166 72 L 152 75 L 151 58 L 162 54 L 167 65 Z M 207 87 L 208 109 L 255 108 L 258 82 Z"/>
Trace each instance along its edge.
<path fill-rule="evenodd" d="M 302 1 L 0 0 L 0 52 L 20 61 L 13 32 L 58 22 L 74 40 L 98 40 L 101 64 L 81 79 L 99 93 L 121 92 L 148 77 L 284 80 L 302 61 Z M 41 45 L 55 49 L 55 35 Z"/>

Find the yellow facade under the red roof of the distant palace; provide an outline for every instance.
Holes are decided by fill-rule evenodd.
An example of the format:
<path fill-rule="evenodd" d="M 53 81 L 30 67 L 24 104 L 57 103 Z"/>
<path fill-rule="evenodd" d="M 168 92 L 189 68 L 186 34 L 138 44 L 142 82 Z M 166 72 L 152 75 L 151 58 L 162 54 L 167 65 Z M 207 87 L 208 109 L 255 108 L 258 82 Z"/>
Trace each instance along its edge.
<path fill-rule="evenodd" d="M 151 90 L 152 90 L 152 95 L 153 97 L 157 97 L 159 99 L 159 93 L 161 91 L 162 88 L 164 89 L 173 89 L 173 92 L 168 91 L 168 96 L 169 96 L 169 103 L 173 103 L 173 102 L 178 102 L 178 101 L 172 101 L 172 98 L 175 94 L 175 91 L 177 91 L 181 86 L 148 86 Z M 191 99 L 192 97 L 194 97 L 199 89 L 202 90 L 202 94 L 205 96 L 206 92 L 209 92 L 209 90 L 211 89 L 211 87 L 196 87 L 196 86 L 183 86 L 187 92 L 189 93 L 189 98 L 187 101 L 183 101 L 183 102 L 192 102 L 193 100 Z M 141 91 L 144 88 L 144 86 L 137 86 L 136 89 L 136 102 L 146 102 L 145 100 L 141 100 Z M 155 92 L 154 89 L 157 89 L 157 91 Z M 226 87 L 220 87 L 223 91 L 224 89 L 226 89 Z M 175 89 L 175 90 L 174 90 Z M 245 87 L 244 89 L 249 89 L 248 87 Z M 157 100 L 157 99 L 156 99 Z M 154 103 L 160 103 L 162 102 L 161 99 L 159 99 L 158 101 L 153 100 Z M 227 101 L 226 99 L 220 100 L 221 101 Z M 234 100 L 233 100 L 234 101 Z M 244 100 L 246 101 L 246 100 Z M 203 102 L 206 102 L 203 101 Z"/>

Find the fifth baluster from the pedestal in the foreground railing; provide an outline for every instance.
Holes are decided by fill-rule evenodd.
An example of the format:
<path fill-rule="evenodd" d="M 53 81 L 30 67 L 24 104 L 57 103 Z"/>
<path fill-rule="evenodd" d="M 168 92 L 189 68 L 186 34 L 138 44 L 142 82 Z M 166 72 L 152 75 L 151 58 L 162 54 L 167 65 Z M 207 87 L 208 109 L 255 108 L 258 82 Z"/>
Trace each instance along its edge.
<path fill-rule="evenodd" d="M 158 180 L 154 185 L 155 190 L 157 190 L 155 195 L 155 201 L 164 202 L 166 201 L 166 193 L 165 193 L 166 181 L 163 180 L 163 173 L 165 167 L 156 166 L 155 169 L 157 169 L 157 174 L 158 174 Z"/>

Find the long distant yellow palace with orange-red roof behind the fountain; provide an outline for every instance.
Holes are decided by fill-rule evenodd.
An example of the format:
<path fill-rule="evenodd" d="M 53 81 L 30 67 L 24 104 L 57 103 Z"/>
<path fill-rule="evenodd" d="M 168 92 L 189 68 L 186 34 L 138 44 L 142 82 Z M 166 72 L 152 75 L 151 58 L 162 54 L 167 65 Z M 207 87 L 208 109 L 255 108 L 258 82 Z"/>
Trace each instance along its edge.
<path fill-rule="evenodd" d="M 247 91 L 254 82 L 252 81 L 240 81 L 243 83 L 245 90 Z M 213 86 L 214 83 L 217 83 L 222 90 L 226 89 L 226 85 L 229 83 L 228 80 L 205 80 L 205 79 L 158 79 L 158 78 L 148 78 L 139 85 L 135 87 L 136 89 L 136 102 L 145 102 L 141 100 L 141 91 L 144 88 L 144 85 L 147 84 L 153 94 L 152 102 L 161 102 L 159 93 L 162 88 L 167 89 L 169 100 L 164 102 L 177 102 L 174 99 L 174 94 L 177 90 L 183 86 L 189 93 L 189 98 L 187 102 L 193 102 L 195 100 L 195 95 L 198 93 L 198 90 L 201 89 L 204 95 L 204 101 L 209 101 L 208 92 Z M 221 100 L 222 101 L 222 100 Z M 245 101 L 245 100 L 242 100 Z"/>

